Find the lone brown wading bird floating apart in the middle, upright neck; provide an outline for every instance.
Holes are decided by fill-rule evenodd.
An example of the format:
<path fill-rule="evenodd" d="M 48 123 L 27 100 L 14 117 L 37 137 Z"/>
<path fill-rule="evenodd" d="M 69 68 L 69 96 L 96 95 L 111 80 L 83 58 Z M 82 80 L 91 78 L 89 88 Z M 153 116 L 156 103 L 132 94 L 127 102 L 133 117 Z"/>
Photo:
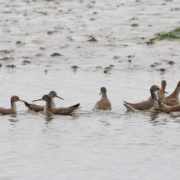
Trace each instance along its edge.
<path fill-rule="evenodd" d="M 102 95 L 101 99 L 95 104 L 95 109 L 111 110 L 111 102 L 107 97 L 107 90 L 105 87 L 101 87 L 100 95 Z"/>

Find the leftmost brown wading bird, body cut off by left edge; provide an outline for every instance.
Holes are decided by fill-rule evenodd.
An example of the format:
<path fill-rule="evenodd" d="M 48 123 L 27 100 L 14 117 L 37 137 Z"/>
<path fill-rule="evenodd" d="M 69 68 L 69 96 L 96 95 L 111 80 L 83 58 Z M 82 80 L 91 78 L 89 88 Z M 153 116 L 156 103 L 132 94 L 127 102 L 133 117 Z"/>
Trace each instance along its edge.
<path fill-rule="evenodd" d="M 16 102 L 17 101 L 24 102 L 23 100 L 20 100 L 18 96 L 12 96 L 11 97 L 11 108 L 6 109 L 6 108 L 0 107 L 0 114 L 3 114 L 3 115 L 16 114 Z"/>

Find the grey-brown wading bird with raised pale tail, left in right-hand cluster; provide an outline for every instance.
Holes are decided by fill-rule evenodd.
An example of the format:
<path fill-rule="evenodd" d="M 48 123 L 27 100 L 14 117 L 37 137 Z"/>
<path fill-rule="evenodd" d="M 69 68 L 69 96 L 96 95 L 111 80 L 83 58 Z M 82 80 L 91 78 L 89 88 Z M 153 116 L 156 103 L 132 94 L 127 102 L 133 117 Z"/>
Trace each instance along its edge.
<path fill-rule="evenodd" d="M 158 97 L 157 92 L 159 91 L 159 87 L 156 85 L 153 85 L 150 88 L 151 97 L 147 101 L 142 101 L 140 103 L 131 104 L 126 101 L 124 101 L 124 106 L 127 108 L 127 110 L 135 111 L 135 110 L 151 110 L 158 108 Z"/>

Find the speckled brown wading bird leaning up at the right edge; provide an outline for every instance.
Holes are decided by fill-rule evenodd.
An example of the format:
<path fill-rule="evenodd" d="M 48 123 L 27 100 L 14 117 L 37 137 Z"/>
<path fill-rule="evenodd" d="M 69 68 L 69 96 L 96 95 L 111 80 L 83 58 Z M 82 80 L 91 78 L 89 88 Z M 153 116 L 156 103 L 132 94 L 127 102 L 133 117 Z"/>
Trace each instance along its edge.
<path fill-rule="evenodd" d="M 176 89 L 173 93 L 165 97 L 161 102 L 168 106 L 176 106 L 179 104 L 179 92 L 180 92 L 180 81 L 178 82 Z"/>

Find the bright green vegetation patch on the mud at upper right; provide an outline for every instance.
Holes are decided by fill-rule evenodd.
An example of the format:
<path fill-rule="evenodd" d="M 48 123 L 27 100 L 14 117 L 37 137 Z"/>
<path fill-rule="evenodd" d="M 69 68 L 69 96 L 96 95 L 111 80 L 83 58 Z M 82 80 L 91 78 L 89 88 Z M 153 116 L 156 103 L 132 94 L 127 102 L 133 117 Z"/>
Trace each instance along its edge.
<path fill-rule="evenodd" d="M 155 41 L 155 40 L 161 41 L 164 39 L 166 40 L 180 39 L 180 27 L 168 33 L 158 33 L 156 37 L 150 39 L 150 41 Z"/>

